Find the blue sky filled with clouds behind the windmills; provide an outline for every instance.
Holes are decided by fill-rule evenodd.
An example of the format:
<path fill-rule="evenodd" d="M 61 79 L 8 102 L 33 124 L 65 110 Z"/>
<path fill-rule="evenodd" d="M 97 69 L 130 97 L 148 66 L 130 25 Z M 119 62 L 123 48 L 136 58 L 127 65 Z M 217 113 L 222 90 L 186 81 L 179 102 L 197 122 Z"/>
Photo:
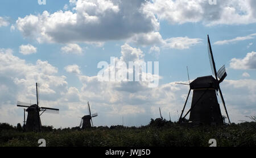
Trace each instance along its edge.
<path fill-rule="evenodd" d="M 94 126 L 141 126 L 150 119 L 177 121 L 189 86 L 212 74 L 207 35 L 231 122 L 256 113 L 256 1 L 254 0 L 1 0 L 0 122 L 23 122 L 17 101 L 60 109 L 43 125 L 79 126 L 88 114 Z M 111 65 L 152 62 L 145 81 L 100 81 Z M 158 62 L 158 66 L 155 62 Z M 102 69 L 99 63 L 110 64 Z M 156 68 L 156 69 L 155 69 Z M 131 69 L 126 69 L 131 70 Z M 148 70 L 148 67 L 147 67 Z M 143 73 L 142 73 L 143 74 Z M 134 78 L 131 78 L 134 79 Z M 152 81 L 159 81 L 150 87 Z M 185 112 L 191 106 L 189 97 Z M 221 113 L 225 115 L 221 100 Z"/>

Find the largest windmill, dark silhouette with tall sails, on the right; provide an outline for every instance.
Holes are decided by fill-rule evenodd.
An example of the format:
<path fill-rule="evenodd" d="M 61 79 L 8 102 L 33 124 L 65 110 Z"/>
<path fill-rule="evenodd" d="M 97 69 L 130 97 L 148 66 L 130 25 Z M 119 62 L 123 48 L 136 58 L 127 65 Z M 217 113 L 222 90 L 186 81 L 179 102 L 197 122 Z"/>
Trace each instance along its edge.
<path fill-rule="evenodd" d="M 210 60 L 210 68 L 212 69 L 213 76 L 203 76 L 197 77 L 196 80 L 190 82 L 189 81 L 189 92 L 187 99 L 185 101 L 183 110 L 181 111 L 181 115 L 179 118 L 179 122 L 182 122 L 184 118 L 189 115 L 189 122 L 193 123 L 203 123 L 203 124 L 224 124 L 220 105 L 217 101 L 217 92 L 220 93 L 220 97 L 226 112 L 226 116 L 228 117 L 229 124 L 230 119 L 228 115 L 228 111 L 226 110 L 225 101 L 220 89 L 220 83 L 227 76 L 225 65 L 221 66 L 221 68 L 216 71 L 216 66 L 213 59 L 212 47 L 210 45 L 210 39 L 208 35 L 208 55 Z M 188 76 L 189 78 L 189 76 Z M 183 117 L 183 112 L 188 101 L 189 94 L 193 90 L 193 97 L 191 108 Z"/>

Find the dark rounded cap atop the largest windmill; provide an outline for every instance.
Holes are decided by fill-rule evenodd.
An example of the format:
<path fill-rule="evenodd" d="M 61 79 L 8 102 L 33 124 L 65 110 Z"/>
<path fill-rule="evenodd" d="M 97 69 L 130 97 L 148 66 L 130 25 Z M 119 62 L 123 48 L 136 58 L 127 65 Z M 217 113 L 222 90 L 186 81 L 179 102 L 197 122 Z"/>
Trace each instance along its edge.
<path fill-rule="evenodd" d="M 190 83 L 191 89 L 199 88 L 214 88 L 218 89 L 218 81 L 212 76 L 197 77 L 196 80 Z"/>

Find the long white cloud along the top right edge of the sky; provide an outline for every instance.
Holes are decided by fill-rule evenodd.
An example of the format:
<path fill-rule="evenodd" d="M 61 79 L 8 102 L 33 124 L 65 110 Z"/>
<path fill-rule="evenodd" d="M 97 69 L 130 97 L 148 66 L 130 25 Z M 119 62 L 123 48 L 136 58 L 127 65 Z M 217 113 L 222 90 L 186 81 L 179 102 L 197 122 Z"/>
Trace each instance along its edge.
<path fill-rule="evenodd" d="M 256 22 L 253 0 L 218 1 L 216 5 L 210 5 L 206 0 L 154 0 L 148 1 L 144 9 L 172 24 L 202 22 L 212 26 Z"/>

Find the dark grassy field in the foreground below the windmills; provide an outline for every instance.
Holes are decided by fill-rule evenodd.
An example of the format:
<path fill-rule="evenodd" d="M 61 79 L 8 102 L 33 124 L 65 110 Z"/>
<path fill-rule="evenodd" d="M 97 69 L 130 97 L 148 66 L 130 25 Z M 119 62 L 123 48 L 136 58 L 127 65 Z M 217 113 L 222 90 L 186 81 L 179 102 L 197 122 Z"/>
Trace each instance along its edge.
<path fill-rule="evenodd" d="M 53 129 L 43 127 L 43 132 L 22 132 L 21 127 L 0 124 L 1 147 L 37 147 L 45 139 L 48 147 L 209 147 L 209 139 L 217 146 L 256 146 L 256 122 L 232 123 L 221 127 L 185 127 L 166 120 L 152 120 L 142 127 L 78 127 Z"/>

